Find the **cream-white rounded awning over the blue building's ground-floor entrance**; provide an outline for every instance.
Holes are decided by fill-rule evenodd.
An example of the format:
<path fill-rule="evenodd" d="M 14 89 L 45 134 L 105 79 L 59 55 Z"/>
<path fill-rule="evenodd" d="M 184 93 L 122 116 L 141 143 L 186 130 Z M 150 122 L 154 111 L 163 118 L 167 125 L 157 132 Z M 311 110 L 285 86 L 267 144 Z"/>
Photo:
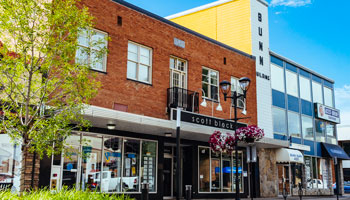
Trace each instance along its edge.
<path fill-rule="evenodd" d="M 276 152 L 276 162 L 304 163 L 304 156 L 298 150 L 281 148 L 281 149 L 278 149 Z"/>

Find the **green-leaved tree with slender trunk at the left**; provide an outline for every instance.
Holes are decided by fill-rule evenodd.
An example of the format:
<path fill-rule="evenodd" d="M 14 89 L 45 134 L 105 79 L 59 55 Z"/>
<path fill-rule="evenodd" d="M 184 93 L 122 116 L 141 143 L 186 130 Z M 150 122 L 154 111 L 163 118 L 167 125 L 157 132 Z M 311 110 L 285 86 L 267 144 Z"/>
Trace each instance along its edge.
<path fill-rule="evenodd" d="M 87 31 L 93 17 L 77 3 L 0 1 L 0 130 L 22 145 L 21 191 L 38 185 L 36 157 L 61 153 L 72 130 L 89 125 L 82 110 L 100 85 L 89 66 L 106 47 L 90 42 L 100 51 L 89 56 L 90 49 L 78 46 L 79 35 L 94 32 Z M 87 62 L 75 62 L 77 50 Z"/>

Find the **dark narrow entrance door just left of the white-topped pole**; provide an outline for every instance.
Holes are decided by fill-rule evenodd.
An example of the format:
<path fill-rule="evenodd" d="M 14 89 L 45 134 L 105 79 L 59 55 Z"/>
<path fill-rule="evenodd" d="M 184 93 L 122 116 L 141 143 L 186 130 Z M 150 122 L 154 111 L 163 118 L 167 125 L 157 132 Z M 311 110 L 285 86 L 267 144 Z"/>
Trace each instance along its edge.
<path fill-rule="evenodd" d="M 173 155 L 164 153 L 164 199 L 173 197 Z"/>

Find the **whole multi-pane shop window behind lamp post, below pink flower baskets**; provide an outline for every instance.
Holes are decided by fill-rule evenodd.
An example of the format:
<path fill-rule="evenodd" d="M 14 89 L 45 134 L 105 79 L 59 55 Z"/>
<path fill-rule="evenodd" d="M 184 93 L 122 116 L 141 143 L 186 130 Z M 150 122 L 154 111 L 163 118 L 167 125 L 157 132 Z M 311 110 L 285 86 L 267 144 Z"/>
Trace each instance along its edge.
<path fill-rule="evenodd" d="M 240 192 L 243 189 L 242 163 L 243 152 L 239 151 L 239 184 Z M 198 148 L 199 162 L 199 192 L 233 192 L 235 190 L 236 165 L 234 152 L 232 155 L 226 153 L 214 153 L 209 147 Z"/>

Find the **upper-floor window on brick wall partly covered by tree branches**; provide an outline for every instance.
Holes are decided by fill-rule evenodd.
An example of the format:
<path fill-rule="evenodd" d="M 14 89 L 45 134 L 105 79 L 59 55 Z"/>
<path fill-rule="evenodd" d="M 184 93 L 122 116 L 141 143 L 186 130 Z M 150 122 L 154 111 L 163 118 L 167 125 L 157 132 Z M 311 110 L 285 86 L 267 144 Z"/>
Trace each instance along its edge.
<path fill-rule="evenodd" d="M 105 72 L 107 54 L 103 51 L 106 47 L 107 33 L 98 30 L 82 30 L 78 36 L 76 62 L 90 65 L 91 69 Z"/>

